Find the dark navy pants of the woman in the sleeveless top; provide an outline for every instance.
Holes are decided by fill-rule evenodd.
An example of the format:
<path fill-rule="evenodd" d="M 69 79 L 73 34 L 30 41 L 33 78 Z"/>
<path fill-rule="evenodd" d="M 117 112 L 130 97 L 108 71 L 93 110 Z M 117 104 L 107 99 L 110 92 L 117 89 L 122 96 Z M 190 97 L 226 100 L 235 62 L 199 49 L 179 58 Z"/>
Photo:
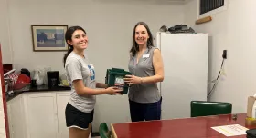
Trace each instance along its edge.
<path fill-rule="evenodd" d="M 129 100 L 132 122 L 150 121 L 161 119 L 162 97 L 158 102 L 141 104 Z"/>

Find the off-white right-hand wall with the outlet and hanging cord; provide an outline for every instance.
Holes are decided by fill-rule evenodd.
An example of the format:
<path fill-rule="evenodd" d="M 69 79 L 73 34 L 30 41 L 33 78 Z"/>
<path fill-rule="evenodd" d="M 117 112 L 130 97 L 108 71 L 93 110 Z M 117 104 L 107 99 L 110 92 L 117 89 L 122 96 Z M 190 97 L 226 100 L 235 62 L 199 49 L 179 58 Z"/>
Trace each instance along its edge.
<path fill-rule="evenodd" d="M 212 15 L 212 21 L 195 25 L 197 0 L 185 5 L 185 23 L 197 32 L 209 33 L 208 80 L 216 79 L 222 61 L 222 51 L 228 50 L 224 64 L 225 75 L 220 78 L 211 101 L 233 104 L 233 113 L 245 113 L 247 97 L 256 93 L 256 12 L 255 0 L 229 0 L 228 9 Z M 209 88 L 212 84 L 209 83 Z"/>

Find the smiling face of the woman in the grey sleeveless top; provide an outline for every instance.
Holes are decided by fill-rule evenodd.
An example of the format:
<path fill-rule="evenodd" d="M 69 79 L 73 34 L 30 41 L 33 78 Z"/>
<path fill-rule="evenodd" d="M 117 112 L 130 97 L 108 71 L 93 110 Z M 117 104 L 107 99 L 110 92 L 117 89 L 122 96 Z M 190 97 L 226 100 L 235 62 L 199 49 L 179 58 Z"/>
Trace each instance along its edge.
<path fill-rule="evenodd" d="M 144 25 L 138 25 L 135 28 L 135 32 L 134 32 L 135 42 L 139 45 L 144 45 L 144 44 L 147 44 L 148 38 L 149 38 L 149 35 Z"/>

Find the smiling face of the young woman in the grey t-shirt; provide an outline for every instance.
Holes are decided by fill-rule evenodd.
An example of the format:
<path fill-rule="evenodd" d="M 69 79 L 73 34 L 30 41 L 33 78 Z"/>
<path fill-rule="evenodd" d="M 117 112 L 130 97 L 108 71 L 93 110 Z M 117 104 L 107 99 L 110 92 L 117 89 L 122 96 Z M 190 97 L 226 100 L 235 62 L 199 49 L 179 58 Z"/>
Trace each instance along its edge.
<path fill-rule="evenodd" d="M 68 41 L 68 43 L 78 51 L 84 50 L 88 46 L 88 37 L 82 30 L 76 30 L 72 34 L 71 41 Z"/>

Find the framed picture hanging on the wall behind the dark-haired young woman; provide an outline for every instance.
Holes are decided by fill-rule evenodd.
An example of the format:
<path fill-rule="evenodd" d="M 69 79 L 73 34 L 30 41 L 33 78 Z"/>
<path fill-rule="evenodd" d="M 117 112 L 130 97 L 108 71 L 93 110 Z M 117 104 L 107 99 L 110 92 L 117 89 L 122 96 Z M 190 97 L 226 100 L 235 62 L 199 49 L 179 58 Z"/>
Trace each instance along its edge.
<path fill-rule="evenodd" d="M 68 25 L 31 25 L 33 51 L 67 51 Z"/>

